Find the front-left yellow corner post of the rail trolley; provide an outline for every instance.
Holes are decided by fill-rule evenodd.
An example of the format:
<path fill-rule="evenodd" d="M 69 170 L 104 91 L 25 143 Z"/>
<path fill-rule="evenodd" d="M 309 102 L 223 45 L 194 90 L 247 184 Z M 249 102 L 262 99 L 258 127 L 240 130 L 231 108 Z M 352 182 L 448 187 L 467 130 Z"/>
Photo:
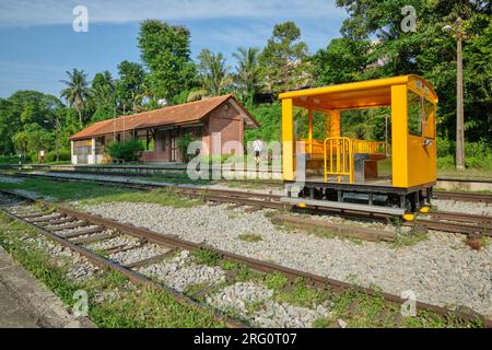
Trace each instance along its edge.
<path fill-rule="evenodd" d="M 294 107 L 292 98 L 282 100 L 283 177 L 294 179 Z"/>

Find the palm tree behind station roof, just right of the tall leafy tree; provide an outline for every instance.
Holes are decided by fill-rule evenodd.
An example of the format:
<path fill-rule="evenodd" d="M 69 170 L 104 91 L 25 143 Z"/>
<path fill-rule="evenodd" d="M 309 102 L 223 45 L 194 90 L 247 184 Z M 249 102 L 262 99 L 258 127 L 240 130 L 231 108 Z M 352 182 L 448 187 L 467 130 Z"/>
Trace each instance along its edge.
<path fill-rule="evenodd" d="M 231 74 L 225 66 L 225 58 L 221 52 L 215 55 L 209 49 L 203 49 L 198 59 L 198 71 L 203 89 L 191 92 L 188 101 L 196 101 L 200 96 L 218 96 L 232 83 Z"/>

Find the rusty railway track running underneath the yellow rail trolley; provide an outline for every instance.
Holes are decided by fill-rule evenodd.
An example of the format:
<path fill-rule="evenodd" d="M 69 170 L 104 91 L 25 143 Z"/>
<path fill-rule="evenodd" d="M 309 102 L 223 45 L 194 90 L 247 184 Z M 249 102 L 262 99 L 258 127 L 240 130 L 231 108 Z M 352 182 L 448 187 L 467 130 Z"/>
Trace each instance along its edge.
<path fill-rule="evenodd" d="M 277 210 L 290 210 L 292 206 L 282 203 L 280 201 L 281 196 L 251 191 L 239 190 L 226 190 L 226 189 L 211 189 L 203 187 L 183 186 L 183 185 L 167 185 L 167 184 L 143 184 L 137 182 L 120 182 L 116 179 L 87 179 L 87 178 L 68 178 L 56 175 L 40 175 L 40 174 L 22 174 L 23 177 L 42 177 L 50 178 L 59 182 L 92 182 L 101 185 L 119 186 L 139 190 L 154 190 L 159 188 L 165 188 L 168 190 L 177 191 L 189 198 L 201 199 L 203 201 L 218 202 L 218 203 L 232 203 L 237 207 L 249 207 L 248 211 L 261 210 L 261 209 L 277 209 Z M 437 198 L 441 192 L 437 192 Z M 448 192 L 445 192 L 448 194 Z M 459 194 L 461 195 L 461 194 Z M 468 195 L 468 194 L 465 194 Z M 452 195 L 453 196 L 453 195 Z M 477 195 L 480 198 L 484 198 L 488 195 Z M 490 196 L 492 199 L 492 196 Z M 456 197 L 457 198 L 457 197 Z M 469 198 L 469 197 L 467 197 Z M 298 209 L 297 209 L 298 210 Z M 366 212 L 359 212 L 353 210 L 339 210 L 328 208 L 311 208 L 307 207 L 302 211 L 311 213 L 329 213 L 338 214 L 342 218 L 356 219 L 356 220 L 377 220 L 388 221 L 394 219 L 388 214 L 374 214 Z M 419 217 L 413 222 L 406 222 L 406 226 L 414 226 L 415 223 L 427 230 L 444 231 L 450 233 L 459 233 L 473 236 L 492 236 L 492 217 L 476 215 L 467 213 L 456 212 L 440 212 L 432 211 L 427 215 Z"/>

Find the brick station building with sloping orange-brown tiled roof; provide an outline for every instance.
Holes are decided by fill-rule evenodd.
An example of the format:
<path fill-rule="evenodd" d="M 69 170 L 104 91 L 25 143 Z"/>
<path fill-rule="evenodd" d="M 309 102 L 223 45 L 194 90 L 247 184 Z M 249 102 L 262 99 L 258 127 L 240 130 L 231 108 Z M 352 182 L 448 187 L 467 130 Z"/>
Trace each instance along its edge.
<path fill-rule="evenodd" d="M 215 155 L 212 135 L 226 142 L 244 144 L 247 128 L 259 124 L 234 95 L 206 98 L 131 116 L 95 122 L 70 138 L 72 164 L 99 164 L 107 161 L 106 145 L 130 139 L 142 140 L 145 151 L 141 161 L 149 163 L 183 162 L 178 140 L 192 135 L 201 140 L 201 155 Z"/>

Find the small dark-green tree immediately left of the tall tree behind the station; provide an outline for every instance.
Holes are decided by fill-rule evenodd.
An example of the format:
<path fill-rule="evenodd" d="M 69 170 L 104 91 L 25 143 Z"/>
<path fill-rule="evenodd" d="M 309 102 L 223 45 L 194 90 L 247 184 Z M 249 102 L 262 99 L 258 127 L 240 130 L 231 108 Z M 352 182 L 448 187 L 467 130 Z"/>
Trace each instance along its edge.
<path fill-rule="evenodd" d="M 116 91 L 120 108 L 137 113 L 137 107 L 141 106 L 143 101 L 145 71 L 139 63 L 122 61 L 118 66 L 118 74 Z"/>

